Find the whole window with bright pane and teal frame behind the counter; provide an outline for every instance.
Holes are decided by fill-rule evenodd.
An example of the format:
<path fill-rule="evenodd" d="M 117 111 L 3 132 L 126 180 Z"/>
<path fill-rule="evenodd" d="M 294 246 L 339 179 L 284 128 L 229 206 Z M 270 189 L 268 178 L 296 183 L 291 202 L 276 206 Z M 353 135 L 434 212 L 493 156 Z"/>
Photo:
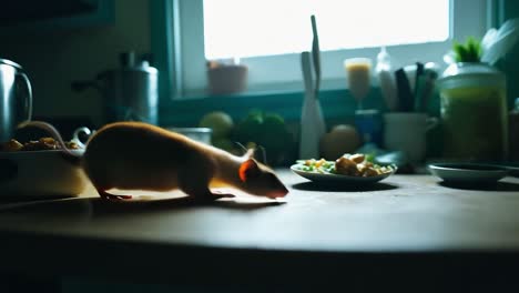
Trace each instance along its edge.
<path fill-rule="evenodd" d="M 441 63 L 452 38 L 485 33 L 488 2 L 180 0 L 181 88 L 200 94 L 206 59 L 238 57 L 250 68 L 251 90 L 302 89 L 299 52 L 311 50 L 311 14 L 317 18 L 324 88 L 344 88 L 343 60 L 375 61 L 380 46 L 401 64 Z"/>

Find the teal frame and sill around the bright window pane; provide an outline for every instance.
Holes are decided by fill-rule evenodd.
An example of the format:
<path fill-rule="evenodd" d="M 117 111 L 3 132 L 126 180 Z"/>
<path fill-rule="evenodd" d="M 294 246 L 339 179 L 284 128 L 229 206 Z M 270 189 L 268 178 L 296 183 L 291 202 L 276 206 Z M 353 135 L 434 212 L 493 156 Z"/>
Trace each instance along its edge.
<path fill-rule="evenodd" d="M 482 36 L 495 22 L 495 8 L 491 0 L 450 0 L 450 38 L 444 42 L 404 44 L 387 47 L 388 51 L 403 64 L 417 60 L 442 63 L 442 54 L 451 47 L 452 39 L 466 36 Z M 177 59 L 175 70 L 175 97 L 180 99 L 200 98 L 206 93 L 204 54 L 203 0 L 173 0 L 176 18 L 172 27 L 177 32 Z M 472 16 L 472 17 L 467 17 Z M 379 48 L 349 49 L 322 52 L 323 89 L 345 88 L 345 73 L 342 62 L 350 57 L 376 59 Z M 179 58 L 181 57 L 181 58 Z M 282 75 L 273 75 L 273 70 L 264 67 L 265 60 L 276 63 L 284 70 Z M 189 62 L 187 62 L 189 60 Z M 298 90 L 303 89 L 299 55 L 297 53 L 274 57 L 243 59 L 250 68 L 250 91 Z M 293 70 L 286 70 L 292 68 Z M 279 70 L 277 71 L 279 72 Z"/>

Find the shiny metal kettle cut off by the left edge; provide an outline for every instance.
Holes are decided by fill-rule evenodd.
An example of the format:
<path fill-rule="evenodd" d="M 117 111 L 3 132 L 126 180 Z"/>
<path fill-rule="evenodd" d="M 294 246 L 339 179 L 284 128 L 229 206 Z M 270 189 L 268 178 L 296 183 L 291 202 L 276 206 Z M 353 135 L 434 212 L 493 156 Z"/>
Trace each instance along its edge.
<path fill-rule="evenodd" d="M 19 123 L 31 120 L 32 89 L 23 69 L 0 59 L 0 143 L 13 138 Z"/>

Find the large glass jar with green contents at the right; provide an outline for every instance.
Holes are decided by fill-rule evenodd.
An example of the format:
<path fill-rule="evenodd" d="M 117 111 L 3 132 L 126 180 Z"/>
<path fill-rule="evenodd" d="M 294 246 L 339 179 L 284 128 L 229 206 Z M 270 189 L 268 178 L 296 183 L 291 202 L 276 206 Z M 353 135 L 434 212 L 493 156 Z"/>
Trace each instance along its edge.
<path fill-rule="evenodd" d="M 508 155 L 506 78 L 486 63 L 455 63 L 438 80 L 444 156 L 503 161 Z"/>

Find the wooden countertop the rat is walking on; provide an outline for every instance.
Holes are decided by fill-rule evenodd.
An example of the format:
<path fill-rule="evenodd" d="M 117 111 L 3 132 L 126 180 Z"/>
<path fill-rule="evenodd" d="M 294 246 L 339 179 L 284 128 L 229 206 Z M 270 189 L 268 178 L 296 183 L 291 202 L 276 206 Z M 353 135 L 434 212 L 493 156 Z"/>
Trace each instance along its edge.
<path fill-rule="evenodd" d="M 241 194 L 194 205 L 165 199 L 177 195 L 172 193 L 113 203 L 89 189 L 74 199 L 0 202 L 0 270 L 165 283 L 232 277 L 328 284 L 347 273 L 385 277 L 397 270 L 421 280 L 425 271 L 416 267 L 427 267 L 427 277 L 467 266 L 471 277 L 482 267 L 519 269 L 517 178 L 475 189 L 430 175 L 393 175 L 348 189 L 278 173 L 291 190 L 283 201 Z"/>

